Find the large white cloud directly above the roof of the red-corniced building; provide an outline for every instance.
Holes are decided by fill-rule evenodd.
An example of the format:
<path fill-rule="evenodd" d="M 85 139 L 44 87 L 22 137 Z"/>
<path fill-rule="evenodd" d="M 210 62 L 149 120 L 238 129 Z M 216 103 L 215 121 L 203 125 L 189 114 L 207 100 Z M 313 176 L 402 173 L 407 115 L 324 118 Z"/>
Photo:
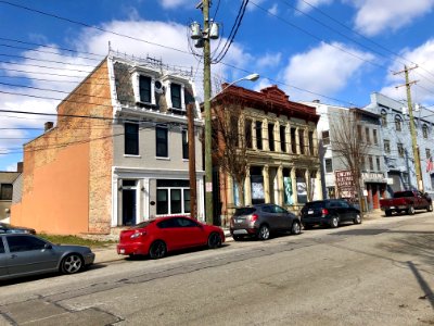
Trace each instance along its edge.
<path fill-rule="evenodd" d="M 370 53 L 350 49 L 342 43 L 334 42 L 333 46 L 320 43 L 317 48 L 308 52 L 292 57 L 289 65 L 282 73 L 285 84 L 294 85 L 316 93 L 332 96 L 344 89 L 349 79 L 355 78 L 365 63 L 355 57 L 340 51 L 337 48 L 345 48 L 346 51 L 365 60 L 373 59 L 373 55 Z M 298 95 L 305 100 L 310 100 L 314 96 L 308 92 L 298 92 L 291 87 L 288 87 L 285 91 L 291 97 Z"/>

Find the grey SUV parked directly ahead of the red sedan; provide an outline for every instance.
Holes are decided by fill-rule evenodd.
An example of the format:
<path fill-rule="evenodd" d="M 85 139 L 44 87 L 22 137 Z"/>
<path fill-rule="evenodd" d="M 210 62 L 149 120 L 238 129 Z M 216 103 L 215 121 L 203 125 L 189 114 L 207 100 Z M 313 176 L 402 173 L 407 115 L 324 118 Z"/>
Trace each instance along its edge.
<path fill-rule="evenodd" d="M 298 235 L 301 229 L 299 218 L 276 204 L 255 204 L 237 209 L 230 221 L 230 233 L 235 241 L 245 236 L 267 240 L 271 233 L 277 231 Z"/>

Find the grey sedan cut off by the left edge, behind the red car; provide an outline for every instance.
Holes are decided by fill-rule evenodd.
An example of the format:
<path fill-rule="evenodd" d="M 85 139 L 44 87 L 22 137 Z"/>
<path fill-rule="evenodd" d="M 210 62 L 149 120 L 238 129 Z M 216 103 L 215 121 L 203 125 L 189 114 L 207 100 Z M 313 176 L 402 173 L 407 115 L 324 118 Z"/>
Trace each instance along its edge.
<path fill-rule="evenodd" d="M 0 235 L 0 280 L 51 272 L 74 274 L 93 261 L 88 247 L 53 244 L 28 234 Z"/>

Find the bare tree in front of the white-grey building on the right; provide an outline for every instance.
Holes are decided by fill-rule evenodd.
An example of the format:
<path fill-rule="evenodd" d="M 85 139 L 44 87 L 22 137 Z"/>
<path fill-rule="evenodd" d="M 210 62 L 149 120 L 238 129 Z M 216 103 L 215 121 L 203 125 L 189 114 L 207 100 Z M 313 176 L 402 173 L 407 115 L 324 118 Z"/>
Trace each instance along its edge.
<path fill-rule="evenodd" d="M 368 154 L 368 143 L 361 137 L 361 114 L 358 109 L 341 110 L 331 125 L 331 133 L 333 152 L 340 156 L 345 168 L 352 173 L 354 193 L 357 193 L 360 208 L 365 208 L 360 183 L 361 167 Z"/>

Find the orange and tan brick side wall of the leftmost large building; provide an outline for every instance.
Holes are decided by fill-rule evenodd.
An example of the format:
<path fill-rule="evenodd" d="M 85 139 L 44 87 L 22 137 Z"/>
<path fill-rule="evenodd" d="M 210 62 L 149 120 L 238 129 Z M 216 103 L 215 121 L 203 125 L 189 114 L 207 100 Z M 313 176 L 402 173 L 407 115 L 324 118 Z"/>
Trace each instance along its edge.
<path fill-rule="evenodd" d="M 58 108 L 51 131 L 24 147 L 23 196 L 11 223 L 50 234 L 110 233 L 113 108 L 106 61 Z"/>

